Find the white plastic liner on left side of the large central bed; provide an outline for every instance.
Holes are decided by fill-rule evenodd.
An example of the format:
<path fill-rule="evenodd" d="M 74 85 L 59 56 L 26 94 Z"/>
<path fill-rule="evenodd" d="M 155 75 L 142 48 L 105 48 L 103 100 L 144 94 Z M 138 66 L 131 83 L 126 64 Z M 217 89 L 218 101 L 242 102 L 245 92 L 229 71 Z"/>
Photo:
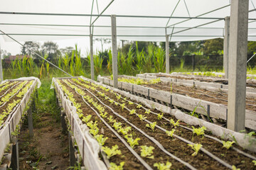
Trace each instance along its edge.
<path fill-rule="evenodd" d="M 57 97 L 60 99 L 61 104 L 64 108 L 64 112 L 67 115 L 68 122 L 70 123 L 70 128 L 74 133 L 75 141 L 77 142 L 82 157 L 82 163 L 85 165 L 86 169 L 107 170 L 104 162 L 102 162 L 99 158 L 100 145 L 98 144 L 97 140 L 95 140 L 90 135 L 87 125 L 82 123 L 82 121 L 78 117 L 78 114 L 76 113 L 76 108 L 72 106 L 72 103 L 63 94 L 60 85 L 56 81 L 56 79 L 70 78 L 71 77 L 53 78 L 53 84 L 55 86 Z"/>

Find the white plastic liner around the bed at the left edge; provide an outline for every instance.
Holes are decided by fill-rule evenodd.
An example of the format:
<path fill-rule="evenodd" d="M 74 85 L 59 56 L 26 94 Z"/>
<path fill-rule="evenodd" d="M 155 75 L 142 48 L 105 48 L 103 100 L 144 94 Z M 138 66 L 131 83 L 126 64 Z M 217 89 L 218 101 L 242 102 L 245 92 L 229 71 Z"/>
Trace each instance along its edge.
<path fill-rule="evenodd" d="M 36 77 L 22 77 L 19 79 L 12 79 L 12 80 L 5 80 L 1 83 L 4 83 L 6 81 L 26 81 L 26 80 L 34 80 L 32 86 L 30 89 L 28 89 L 27 93 L 23 96 L 21 99 L 21 102 L 18 104 L 18 107 L 16 108 L 16 111 L 9 115 L 9 119 L 6 120 L 4 123 L 4 128 L 0 130 L 0 160 L 4 155 L 4 149 L 6 146 L 11 142 L 11 133 L 16 130 L 16 125 L 21 120 L 23 111 L 26 108 L 26 104 L 28 104 L 29 99 L 31 98 L 31 94 L 33 91 L 37 88 L 36 84 L 38 84 L 38 88 L 41 86 L 41 81 Z"/>

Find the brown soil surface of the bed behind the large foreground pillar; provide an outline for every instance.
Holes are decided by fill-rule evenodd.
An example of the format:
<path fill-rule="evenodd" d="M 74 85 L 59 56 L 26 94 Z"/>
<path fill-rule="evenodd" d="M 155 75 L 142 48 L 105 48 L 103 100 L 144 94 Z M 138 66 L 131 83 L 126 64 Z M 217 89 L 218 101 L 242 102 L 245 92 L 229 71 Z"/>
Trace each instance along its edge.
<path fill-rule="evenodd" d="M 181 94 L 184 96 L 190 96 L 192 98 L 198 98 L 203 101 L 210 101 L 213 103 L 228 105 L 228 94 L 223 91 L 208 91 L 206 89 L 197 89 L 196 87 L 187 87 L 187 86 L 177 86 L 176 84 L 171 84 L 167 86 L 162 82 L 157 84 L 144 84 L 143 86 L 150 87 L 152 89 L 169 91 L 174 94 Z M 172 90 L 171 90 L 172 89 Z M 256 111 L 256 98 L 247 98 L 246 109 L 250 111 Z"/>

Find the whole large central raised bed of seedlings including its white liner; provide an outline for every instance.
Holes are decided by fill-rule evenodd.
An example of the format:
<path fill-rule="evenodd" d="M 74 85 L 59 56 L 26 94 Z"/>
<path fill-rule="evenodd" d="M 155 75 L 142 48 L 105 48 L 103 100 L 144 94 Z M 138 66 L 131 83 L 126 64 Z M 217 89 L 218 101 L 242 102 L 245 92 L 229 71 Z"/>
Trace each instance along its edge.
<path fill-rule="evenodd" d="M 100 162 L 97 159 L 105 162 L 105 167 L 110 169 L 114 169 L 114 165 L 124 169 L 158 169 L 160 165 L 168 166 L 168 169 L 232 169 L 235 166 L 255 169 L 255 153 L 242 151 L 236 144 L 225 149 L 220 137 L 213 134 L 223 136 L 223 140 L 232 139 L 233 136 L 237 144 L 256 152 L 254 137 L 250 137 L 249 145 L 249 138 L 245 134 L 225 130 L 176 109 L 171 110 L 83 77 L 54 79 L 53 82 L 57 94 L 63 96 L 61 101 L 65 110 L 70 112 L 68 117 L 74 135 L 79 131 L 75 127 L 84 127 L 84 130 L 87 129 L 85 132 L 91 134 L 87 136 L 99 142 L 100 150 L 96 145 L 89 146 L 94 157 L 90 157 L 89 162 L 84 161 L 88 169 L 91 167 L 88 164 Z M 201 135 L 193 133 L 198 130 Z M 85 145 L 93 140 L 78 140 L 78 135 L 75 135 L 75 139 L 82 159 L 87 159 L 85 154 L 88 156 L 90 153 L 85 152 Z M 198 154 L 189 145 L 197 147 Z M 98 152 L 103 153 L 102 157 L 95 156 Z M 103 166 L 101 169 L 104 169 Z"/>

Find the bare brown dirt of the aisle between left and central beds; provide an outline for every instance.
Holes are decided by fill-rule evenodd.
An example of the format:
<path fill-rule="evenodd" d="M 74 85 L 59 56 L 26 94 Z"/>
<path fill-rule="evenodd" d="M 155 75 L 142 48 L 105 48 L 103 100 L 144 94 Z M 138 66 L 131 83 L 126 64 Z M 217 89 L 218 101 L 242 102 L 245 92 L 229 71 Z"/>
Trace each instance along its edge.
<path fill-rule="evenodd" d="M 40 122 L 34 125 L 34 137 L 28 137 L 28 128 L 23 126 L 18 136 L 20 169 L 67 169 L 69 166 L 68 135 L 61 133 L 60 123 L 49 113 L 43 113 Z"/>

